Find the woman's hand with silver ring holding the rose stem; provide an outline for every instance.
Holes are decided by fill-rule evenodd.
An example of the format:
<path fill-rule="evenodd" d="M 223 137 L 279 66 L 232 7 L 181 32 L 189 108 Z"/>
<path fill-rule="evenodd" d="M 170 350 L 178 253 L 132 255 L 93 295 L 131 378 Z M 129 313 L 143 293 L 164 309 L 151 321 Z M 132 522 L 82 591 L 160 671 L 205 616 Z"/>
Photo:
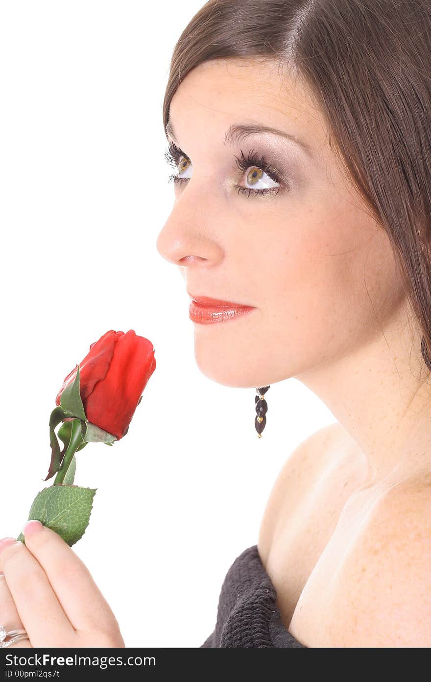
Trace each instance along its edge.
<path fill-rule="evenodd" d="M 89 569 L 60 535 L 32 521 L 25 543 L 0 541 L 0 625 L 29 635 L 9 648 L 125 647 Z"/>

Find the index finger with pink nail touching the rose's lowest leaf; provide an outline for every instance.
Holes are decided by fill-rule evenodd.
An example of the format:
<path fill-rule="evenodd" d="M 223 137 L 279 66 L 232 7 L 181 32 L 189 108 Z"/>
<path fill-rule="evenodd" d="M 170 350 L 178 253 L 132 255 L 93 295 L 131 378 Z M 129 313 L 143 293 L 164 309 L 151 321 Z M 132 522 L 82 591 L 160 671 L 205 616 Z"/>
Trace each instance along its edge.
<path fill-rule="evenodd" d="M 117 625 L 105 597 L 83 561 L 58 533 L 31 521 L 25 543 L 44 568 L 67 618 L 76 630 L 110 631 Z"/>

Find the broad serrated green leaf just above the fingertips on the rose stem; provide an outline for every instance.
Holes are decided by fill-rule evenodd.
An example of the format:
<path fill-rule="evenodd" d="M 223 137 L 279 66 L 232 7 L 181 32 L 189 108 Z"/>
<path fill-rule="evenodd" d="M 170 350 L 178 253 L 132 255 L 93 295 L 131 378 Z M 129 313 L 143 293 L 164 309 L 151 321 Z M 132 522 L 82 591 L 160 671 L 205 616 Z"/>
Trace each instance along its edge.
<path fill-rule="evenodd" d="M 71 547 L 84 535 L 89 524 L 96 490 L 63 485 L 44 488 L 35 496 L 29 520 L 39 520 Z M 25 542 L 22 533 L 17 539 Z"/>

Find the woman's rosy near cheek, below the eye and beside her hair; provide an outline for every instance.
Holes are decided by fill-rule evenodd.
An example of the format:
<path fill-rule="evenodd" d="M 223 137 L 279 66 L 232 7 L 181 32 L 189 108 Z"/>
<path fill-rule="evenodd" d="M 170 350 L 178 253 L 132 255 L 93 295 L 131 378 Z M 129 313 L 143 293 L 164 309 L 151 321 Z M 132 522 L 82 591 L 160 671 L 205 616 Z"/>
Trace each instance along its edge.
<path fill-rule="evenodd" d="M 396 300 L 387 235 L 352 203 L 330 206 L 273 216 L 261 258 L 267 338 L 276 355 L 290 349 L 301 368 L 381 333 Z"/>

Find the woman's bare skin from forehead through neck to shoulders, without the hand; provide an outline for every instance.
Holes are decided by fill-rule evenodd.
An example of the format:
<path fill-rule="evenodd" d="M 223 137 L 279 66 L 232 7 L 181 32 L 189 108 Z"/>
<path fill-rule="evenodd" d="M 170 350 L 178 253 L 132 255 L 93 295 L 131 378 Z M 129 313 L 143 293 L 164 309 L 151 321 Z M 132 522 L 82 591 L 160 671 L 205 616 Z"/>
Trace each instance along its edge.
<path fill-rule="evenodd" d="M 407 635 L 402 628 L 409 612 L 424 612 L 407 584 L 413 570 L 381 535 L 398 533 L 401 546 L 408 537 L 415 560 L 426 555 L 421 530 L 430 514 L 416 501 L 417 481 L 422 490 L 431 471 L 431 401 L 421 330 L 389 238 L 329 145 L 310 92 L 277 63 L 199 65 L 174 94 L 170 119 L 191 172 L 174 190 L 157 249 L 192 294 L 256 307 L 234 322 L 193 324 L 199 369 L 253 390 L 294 377 L 338 421 L 289 456 L 259 531 L 283 623 L 311 647 L 372 646 L 369 634 L 375 646 L 414 642 L 414 623 Z M 270 134 L 229 149 L 223 139 L 234 123 L 285 130 L 313 158 Z M 251 149 L 287 177 L 289 191 L 238 195 L 246 173 L 238 175 L 234 155 Z M 297 416 L 293 406 L 289 418 Z M 412 537 L 400 518 L 417 508 Z M 396 590 L 412 595 L 411 608 L 391 610 Z"/>

